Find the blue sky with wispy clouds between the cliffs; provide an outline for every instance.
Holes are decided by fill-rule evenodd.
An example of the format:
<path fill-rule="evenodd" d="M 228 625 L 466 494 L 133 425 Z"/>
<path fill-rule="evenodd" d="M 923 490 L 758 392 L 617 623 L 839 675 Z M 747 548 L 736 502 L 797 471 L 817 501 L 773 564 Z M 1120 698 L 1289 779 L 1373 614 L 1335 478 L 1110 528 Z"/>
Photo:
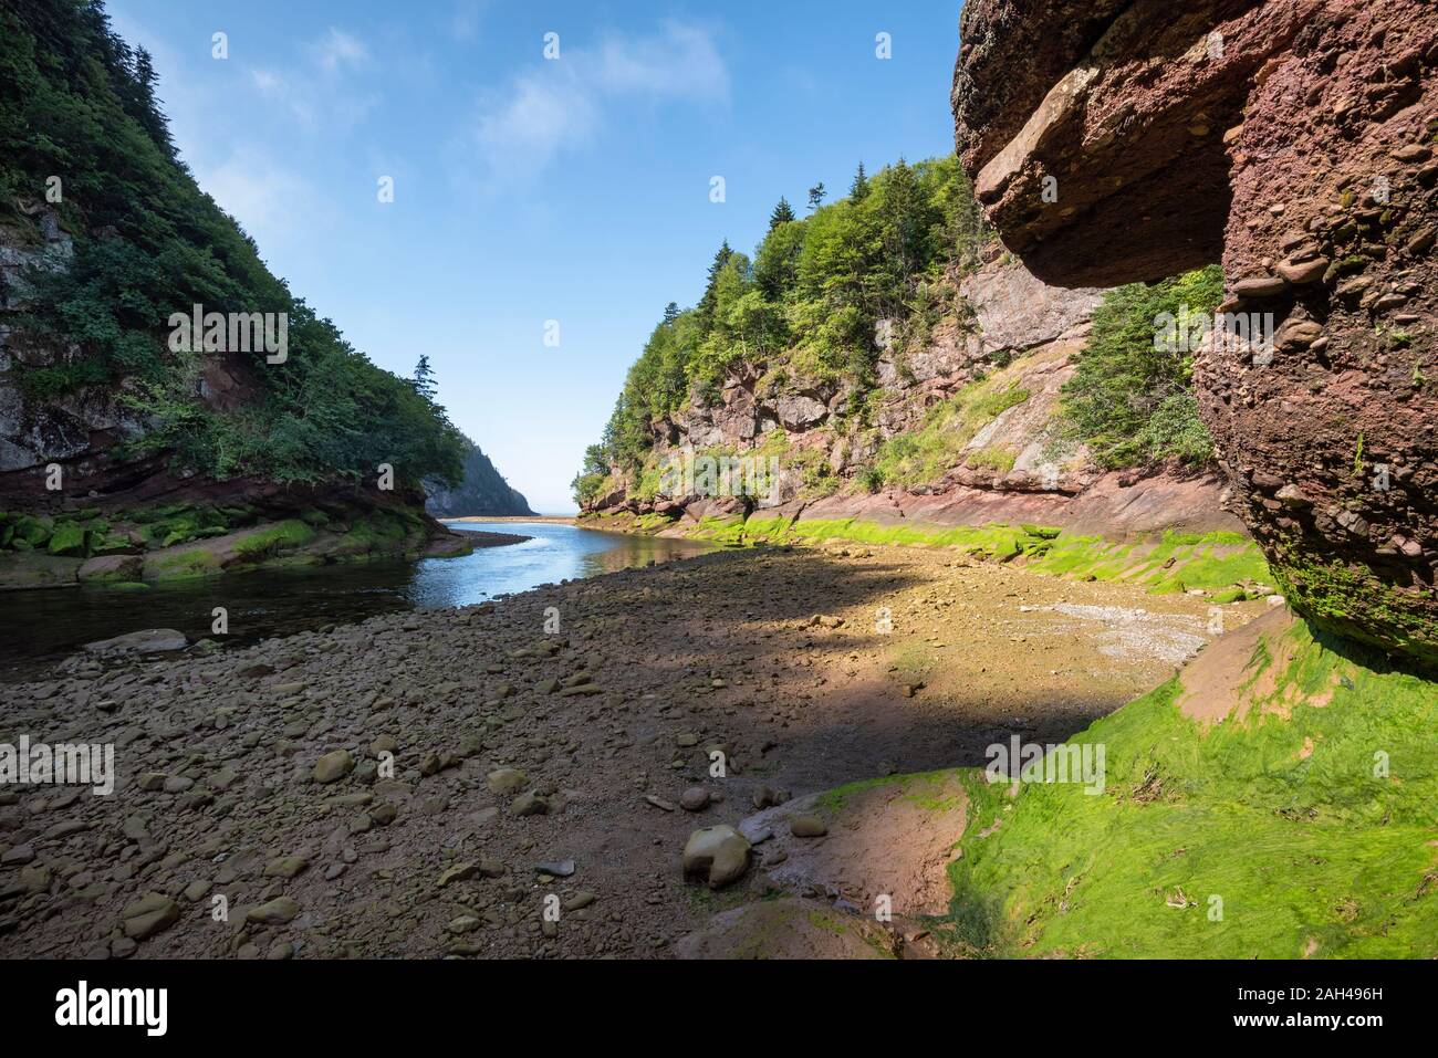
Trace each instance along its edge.
<path fill-rule="evenodd" d="M 626 369 L 667 302 L 697 300 L 720 240 L 752 252 L 781 194 L 843 194 L 860 160 L 953 150 L 956 0 L 109 12 L 270 269 L 381 367 L 427 354 L 450 417 L 546 513 L 572 510 Z"/>

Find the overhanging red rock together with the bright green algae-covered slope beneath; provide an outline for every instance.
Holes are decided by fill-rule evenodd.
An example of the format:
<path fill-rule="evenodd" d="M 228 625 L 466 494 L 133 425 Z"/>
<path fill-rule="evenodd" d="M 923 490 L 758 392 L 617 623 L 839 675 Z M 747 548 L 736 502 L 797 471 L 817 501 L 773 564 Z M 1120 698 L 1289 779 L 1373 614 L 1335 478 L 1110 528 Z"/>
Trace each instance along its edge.
<path fill-rule="evenodd" d="M 1192 381 L 1291 610 L 1050 748 L 1106 752 L 1102 794 L 966 773 L 951 923 L 992 956 L 1432 957 L 1438 20 L 1172 7 L 965 3 L 958 148 L 1047 280 L 1221 256 L 1191 308 L 1273 313 L 1267 348 L 1209 332 Z M 1135 326 L 1171 282 L 1122 288 Z"/>

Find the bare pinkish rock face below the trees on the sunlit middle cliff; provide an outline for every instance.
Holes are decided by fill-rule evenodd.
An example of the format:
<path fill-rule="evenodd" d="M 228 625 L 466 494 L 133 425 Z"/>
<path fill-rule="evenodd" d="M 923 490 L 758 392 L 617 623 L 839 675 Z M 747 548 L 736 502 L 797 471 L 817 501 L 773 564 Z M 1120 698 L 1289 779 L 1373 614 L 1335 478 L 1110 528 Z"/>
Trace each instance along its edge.
<path fill-rule="evenodd" d="M 588 513 L 659 516 L 647 528 L 689 532 L 706 519 L 863 519 L 879 525 L 1041 523 L 1125 536 L 1181 528 L 1241 530 L 1219 509 L 1217 474 L 1176 464 L 1104 470 L 1081 443 L 1055 436 L 1064 384 L 1083 352 L 1100 289 L 1061 289 L 992 247 L 951 272 L 952 305 L 929 339 L 877 361 L 867 418 L 854 390 L 792 372 L 732 374 L 716 401 L 700 394 L 654 424 L 647 472 L 611 470 Z M 939 456 L 897 459 L 907 438 L 942 440 Z M 899 441 L 899 444 L 896 444 Z M 761 494 L 666 487 L 666 461 L 709 453 L 774 460 Z M 876 482 L 893 463 L 899 483 Z M 722 490 L 720 490 L 722 492 Z"/>

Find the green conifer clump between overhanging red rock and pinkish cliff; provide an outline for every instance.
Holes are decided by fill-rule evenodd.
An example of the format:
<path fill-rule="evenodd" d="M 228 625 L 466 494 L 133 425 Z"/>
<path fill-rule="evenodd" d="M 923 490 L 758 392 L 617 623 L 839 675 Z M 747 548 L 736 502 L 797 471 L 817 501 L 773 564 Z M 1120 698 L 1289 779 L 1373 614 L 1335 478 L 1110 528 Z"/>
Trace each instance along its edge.
<path fill-rule="evenodd" d="M 1178 459 L 1202 466 L 1214 443 L 1192 394 L 1192 349 L 1159 348 L 1158 319 L 1212 316 L 1222 298 L 1218 266 L 1104 295 L 1093 335 L 1060 408 L 1058 434 L 1089 446 L 1099 466 L 1116 469 Z M 1179 344 L 1182 345 L 1182 344 Z"/>

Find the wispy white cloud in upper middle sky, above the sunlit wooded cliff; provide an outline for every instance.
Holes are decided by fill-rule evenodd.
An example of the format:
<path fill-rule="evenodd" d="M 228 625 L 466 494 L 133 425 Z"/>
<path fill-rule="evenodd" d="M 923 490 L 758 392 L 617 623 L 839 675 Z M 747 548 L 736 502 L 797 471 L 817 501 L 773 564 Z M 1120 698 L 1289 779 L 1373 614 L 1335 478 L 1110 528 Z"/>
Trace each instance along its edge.
<path fill-rule="evenodd" d="M 729 72 L 710 34 L 666 23 L 650 36 L 607 36 L 592 49 L 561 40 L 559 59 L 539 60 L 538 69 L 479 99 L 467 139 L 489 180 L 512 184 L 591 142 L 618 105 L 728 98 Z"/>

